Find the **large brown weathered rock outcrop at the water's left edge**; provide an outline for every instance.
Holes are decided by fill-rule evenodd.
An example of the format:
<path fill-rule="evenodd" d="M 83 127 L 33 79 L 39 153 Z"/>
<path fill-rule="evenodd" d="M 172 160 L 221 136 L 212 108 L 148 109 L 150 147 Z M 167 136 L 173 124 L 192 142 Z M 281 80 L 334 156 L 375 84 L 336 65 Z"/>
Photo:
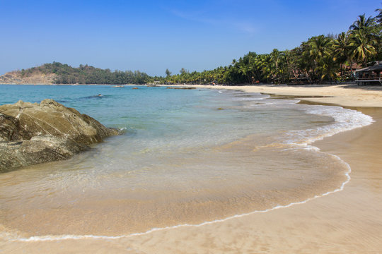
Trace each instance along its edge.
<path fill-rule="evenodd" d="M 67 159 L 117 134 L 53 99 L 5 104 L 0 106 L 0 171 Z"/>

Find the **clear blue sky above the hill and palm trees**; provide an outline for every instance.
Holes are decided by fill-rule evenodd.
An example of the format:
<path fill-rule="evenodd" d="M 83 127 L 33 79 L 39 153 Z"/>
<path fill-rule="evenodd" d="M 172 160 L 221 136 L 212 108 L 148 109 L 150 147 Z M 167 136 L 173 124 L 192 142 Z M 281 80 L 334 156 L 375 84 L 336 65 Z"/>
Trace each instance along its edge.
<path fill-rule="evenodd" d="M 0 75 L 58 61 L 165 75 L 293 49 L 382 0 L 0 0 Z"/>

